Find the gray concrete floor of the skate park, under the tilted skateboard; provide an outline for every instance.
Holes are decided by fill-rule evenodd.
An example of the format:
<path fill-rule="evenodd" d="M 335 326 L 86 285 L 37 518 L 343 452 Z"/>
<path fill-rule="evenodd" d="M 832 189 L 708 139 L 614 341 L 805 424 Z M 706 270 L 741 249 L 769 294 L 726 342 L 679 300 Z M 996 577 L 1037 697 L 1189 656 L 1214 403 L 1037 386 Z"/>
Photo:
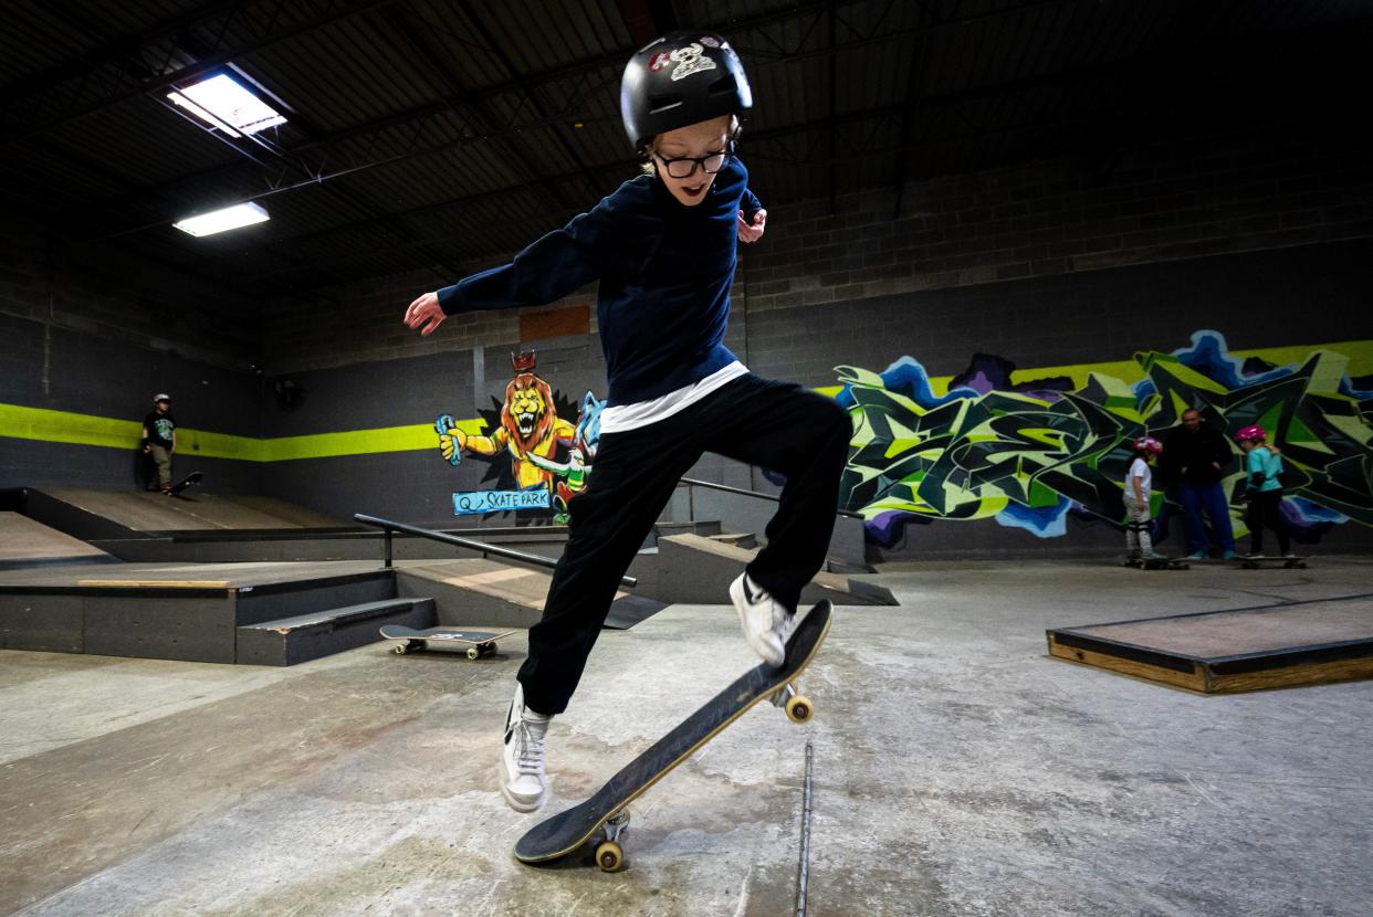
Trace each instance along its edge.
<path fill-rule="evenodd" d="M 803 682 L 634 807 L 629 869 L 530 868 L 493 791 L 523 659 L 288 670 L 0 652 L 0 913 L 1373 913 L 1373 682 L 1204 697 L 1052 660 L 1045 627 L 1373 592 L 1304 571 L 910 564 L 842 608 Z M 605 631 L 555 721 L 545 814 L 750 663 L 726 607 Z"/>

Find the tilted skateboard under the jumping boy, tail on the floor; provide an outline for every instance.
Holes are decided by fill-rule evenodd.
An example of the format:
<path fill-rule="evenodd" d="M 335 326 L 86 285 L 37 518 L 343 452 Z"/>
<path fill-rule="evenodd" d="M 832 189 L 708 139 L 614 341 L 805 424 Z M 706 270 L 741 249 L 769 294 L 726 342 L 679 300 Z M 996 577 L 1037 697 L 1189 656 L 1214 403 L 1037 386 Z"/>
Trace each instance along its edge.
<path fill-rule="evenodd" d="M 548 818 L 515 843 L 515 858 L 538 863 L 566 857 L 599 837 L 596 865 L 615 872 L 625 863 L 619 837 L 629 826 L 629 803 L 691 758 L 697 748 L 759 700 L 770 699 L 792 722 L 806 722 L 814 712 L 810 699 L 798 693 L 796 675 L 816 658 L 829 633 L 829 601 L 821 601 L 800 620 L 787 642 L 787 662 L 780 669 L 763 663 L 740 675 L 700 710 L 625 765 L 586 802 Z"/>

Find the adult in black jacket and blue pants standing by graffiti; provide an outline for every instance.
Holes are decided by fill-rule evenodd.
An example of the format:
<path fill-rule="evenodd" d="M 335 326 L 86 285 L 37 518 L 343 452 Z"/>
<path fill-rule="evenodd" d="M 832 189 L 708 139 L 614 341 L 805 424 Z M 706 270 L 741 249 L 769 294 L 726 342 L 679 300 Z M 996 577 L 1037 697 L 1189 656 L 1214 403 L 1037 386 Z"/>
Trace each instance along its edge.
<path fill-rule="evenodd" d="M 1188 553 L 1193 559 L 1205 557 L 1208 550 L 1203 513 L 1211 522 L 1211 534 L 1221 555 L 1226 560 L 1234 556 L 1230 505 L 1225 487 L 1221 486 L 1225 467 L 1232 458 L 1230 442 L 1203 426 L 1201 412 L 1196 408 L 1184 410 L 1182 426 L 1163 441 L 1163 465 L 1174 480 L 1178 501 L 1188 519 Z"/>

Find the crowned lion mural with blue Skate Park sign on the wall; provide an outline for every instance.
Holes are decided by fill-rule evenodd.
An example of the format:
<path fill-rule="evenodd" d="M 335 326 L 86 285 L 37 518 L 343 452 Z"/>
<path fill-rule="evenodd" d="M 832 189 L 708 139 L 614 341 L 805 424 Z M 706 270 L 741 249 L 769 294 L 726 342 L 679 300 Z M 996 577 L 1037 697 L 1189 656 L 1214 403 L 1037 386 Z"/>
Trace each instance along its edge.
<path fill-rule="evenodd" d="M 454 512 L 551 508 L 553 522 L 563 524 L 568 519 L 568 502 L 586 489 L 605 402 L 588 391 L 573 423 L 566 420 L 574 412 L 573 405 L 534 372 L 533 353 L 511 354 L 511 367 L 515 378 L 505 386 L 505 399 L 493 398 L 493 409 L 481 412 L 486 428 L 496 432 L 489 437 L 467 434 L 449 413 L 439 415 L 434 423 L 439 454 L 450 465 L 459 467 L 463 454 L 490 463 L 482 480 L 493 482 L 494 489 L 453 494 Z M 509 457 L 504 465 L 496 461 L 501 454 Z M 494 500 L 493 494 L 501 498 Z"/>

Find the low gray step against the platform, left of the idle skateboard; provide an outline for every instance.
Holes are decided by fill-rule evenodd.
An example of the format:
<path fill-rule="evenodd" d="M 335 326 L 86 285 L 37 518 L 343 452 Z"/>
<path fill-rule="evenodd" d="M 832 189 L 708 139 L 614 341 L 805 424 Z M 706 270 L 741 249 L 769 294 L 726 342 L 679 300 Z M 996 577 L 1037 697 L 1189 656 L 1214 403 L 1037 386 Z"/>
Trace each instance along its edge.
<path fill-rule="evenodd" d="M 242 625 L 236 662 L 294 666 L 376 642 L 382 625 L 432 627 L 434 623 L 432 599 L 386 599 Z"/>

